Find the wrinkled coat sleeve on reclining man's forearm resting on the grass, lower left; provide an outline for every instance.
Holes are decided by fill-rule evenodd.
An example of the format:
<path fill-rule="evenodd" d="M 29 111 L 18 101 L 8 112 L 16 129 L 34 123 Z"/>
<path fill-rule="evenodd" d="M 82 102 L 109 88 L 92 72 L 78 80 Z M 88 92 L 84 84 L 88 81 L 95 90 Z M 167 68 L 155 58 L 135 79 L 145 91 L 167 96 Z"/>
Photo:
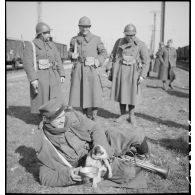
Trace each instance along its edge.
<path fill-rule="evenodd" d="M 57 187 L 75 184 L 70 177 L 70 168 L 53 170 L 45 165 L 40 166 L 39 179 L 42 185 Z"/>

